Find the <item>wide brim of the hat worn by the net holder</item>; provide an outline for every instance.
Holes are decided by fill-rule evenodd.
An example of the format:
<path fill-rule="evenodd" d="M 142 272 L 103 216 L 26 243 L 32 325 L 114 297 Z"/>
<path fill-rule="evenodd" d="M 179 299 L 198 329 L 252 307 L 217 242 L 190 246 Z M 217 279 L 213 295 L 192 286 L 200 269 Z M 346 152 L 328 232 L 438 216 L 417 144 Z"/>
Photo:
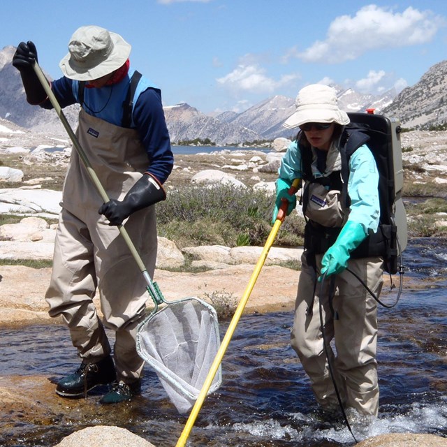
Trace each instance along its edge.
<path fill-rule="evenodd" d="M 124 38 L 119 34 L 111 31 L 109 31 L 109 34 L 113 42 L 113 51 L 107 59 L 99 61 L 95 66 L 85 68 L 76 64 L 76 61 L 72 59 L 70 52 L 68 52 L 59 62 L 59 68 L 61 68 L 64 76 L 77 81 L 91 81 L 102 78 L 121 67 L 129 59 L 132 46 L 124 41 Z"/>

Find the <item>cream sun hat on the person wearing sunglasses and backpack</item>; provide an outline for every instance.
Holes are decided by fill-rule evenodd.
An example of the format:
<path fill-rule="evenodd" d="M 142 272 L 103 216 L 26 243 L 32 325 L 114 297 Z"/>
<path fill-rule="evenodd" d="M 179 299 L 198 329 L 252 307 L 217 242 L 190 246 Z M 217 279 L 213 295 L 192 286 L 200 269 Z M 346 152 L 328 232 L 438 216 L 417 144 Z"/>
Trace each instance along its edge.
<path fill-rule="evenodd" d="M 301 126 L 305 123 L 332 123 L 345 126 L 349 117 L 337 105 L 337 92 L 332 87 L 322 84 L 312 84 L 303 87 L 296 97 L 296 111 L 283 126 L 287 129 Z"/>

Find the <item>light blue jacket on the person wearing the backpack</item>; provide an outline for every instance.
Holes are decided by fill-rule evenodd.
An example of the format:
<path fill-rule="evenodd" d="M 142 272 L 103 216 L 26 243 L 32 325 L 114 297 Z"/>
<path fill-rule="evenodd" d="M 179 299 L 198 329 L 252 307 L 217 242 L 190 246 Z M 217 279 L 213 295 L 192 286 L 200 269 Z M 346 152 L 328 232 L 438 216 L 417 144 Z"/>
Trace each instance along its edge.
<path fill-rule="evenodd" d="M 310 150 L 310 149 L 304 149 Z M 288 146 L 281 161 L 279 177 L 293 182 L 301 175 L 301 151 L 295 140 Z M 321 175 L 321 173 L 320 173 Z M 379 226 L 379 172 L 367 145 L 360 146 L 349 159 L 348 194 L 351 198 L 349 221 L 360 223 L 365 235 L 375 233 Z"/>

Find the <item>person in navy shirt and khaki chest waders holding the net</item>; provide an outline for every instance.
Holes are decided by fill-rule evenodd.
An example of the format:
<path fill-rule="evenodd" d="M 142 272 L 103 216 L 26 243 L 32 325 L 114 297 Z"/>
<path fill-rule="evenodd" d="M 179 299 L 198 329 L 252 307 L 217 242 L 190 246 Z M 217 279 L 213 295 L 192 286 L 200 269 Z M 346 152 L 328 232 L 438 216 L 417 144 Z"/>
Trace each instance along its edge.
<path fill-rule="evenodd" d="M 119 34 L 80 27 L 59 64 L 64 77 L 51 83 L 61 107 L 80 103 L 77 137 L 110 197 L 103 203 L 78 152 L 72 151 L 45 299 L 50 316 L 61 316 L 68 325 L 82 362 L 59 380 L 56 393 L 82 397 L 111 383 L 103 404 L 140 393 L 143 369 L 135 336 L 145 317 L 146 284 L 117 226 L 126 223 L 152 276 L 154 204 L 166 198 L 162 184 L 173 168 L 161 91 L 131 68 L 130 52 Z M 20 43 L 13 66 L 20 71 L 27 101 L 52 108 L 34 73 L 36 61 L 36 45 Z M 102 320 L 93 301 L 96 293 Z M 115 331 L 113 353 L 104 327 Z"/>

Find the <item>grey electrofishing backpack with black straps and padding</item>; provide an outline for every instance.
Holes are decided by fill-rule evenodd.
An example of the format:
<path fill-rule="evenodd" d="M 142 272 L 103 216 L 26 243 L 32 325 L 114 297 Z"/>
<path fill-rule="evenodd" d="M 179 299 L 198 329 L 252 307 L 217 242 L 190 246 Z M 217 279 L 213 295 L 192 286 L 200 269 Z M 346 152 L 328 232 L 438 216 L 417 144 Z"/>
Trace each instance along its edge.
<path fill-rule="evenodd" d="M 372 113 L 348 113 L 351 123 L 342 135 L 343 194 L 349 205 L 347 184 L 349 158 L 366 144 L 374 155 L 379 170 L 380 223 L 377 232 L 370 235 L 356 249 L 357 256 L 383 256 L 383 269 L 395 274 L 402 268 L 398 260 L 406 248 L 406 213 L 402 202 L 404 170 L 400 145 L 400 122 L 397 119 Z"/>

